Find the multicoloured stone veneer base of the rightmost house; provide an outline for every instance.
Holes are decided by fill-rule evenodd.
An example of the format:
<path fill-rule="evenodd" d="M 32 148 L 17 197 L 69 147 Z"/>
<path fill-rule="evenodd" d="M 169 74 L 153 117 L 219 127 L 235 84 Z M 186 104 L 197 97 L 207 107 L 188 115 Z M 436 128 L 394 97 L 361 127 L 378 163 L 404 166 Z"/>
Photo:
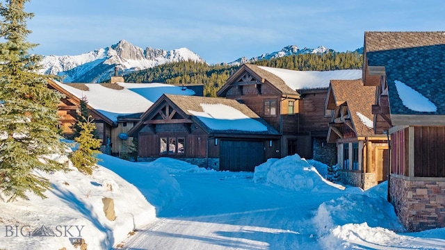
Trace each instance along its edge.
<path fill-rule="evenodd" d="M 391 203 L 410 232 L 445 227 L 445 181 L 406 181 L 391 176 Z"/>

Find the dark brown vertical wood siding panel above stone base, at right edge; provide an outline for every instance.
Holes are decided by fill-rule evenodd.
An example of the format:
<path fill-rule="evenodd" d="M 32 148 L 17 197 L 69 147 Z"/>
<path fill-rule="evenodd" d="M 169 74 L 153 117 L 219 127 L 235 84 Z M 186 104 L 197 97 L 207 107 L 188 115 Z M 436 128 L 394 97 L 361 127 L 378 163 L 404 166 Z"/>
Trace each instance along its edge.
<path fill-rule="evenodd" d="M 445 127 L 414 127 L 414 176 L 445 177 Z"/>

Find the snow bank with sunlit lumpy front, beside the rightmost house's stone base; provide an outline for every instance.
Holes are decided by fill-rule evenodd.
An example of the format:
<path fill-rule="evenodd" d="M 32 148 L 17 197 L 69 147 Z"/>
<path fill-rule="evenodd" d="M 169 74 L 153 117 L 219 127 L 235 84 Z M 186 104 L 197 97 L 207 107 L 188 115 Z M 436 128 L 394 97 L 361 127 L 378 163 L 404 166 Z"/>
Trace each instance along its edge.
<path fill-rule="evenodd" d="M 384 189 L 385 184 L 382 184 L 362 194 L 345 194 L 321 203 L 312 220 L 323 248 L 348 249 L 350 244 L 357 242 L 366 246 L 366 242 L 378 244 L 380 240 L 387 244 L 393 238 L 400 240 L 394 231 L 405 229 L 394 207 L 382 198 Z M 370 244 L 368 247 L 375 246 Z"/>

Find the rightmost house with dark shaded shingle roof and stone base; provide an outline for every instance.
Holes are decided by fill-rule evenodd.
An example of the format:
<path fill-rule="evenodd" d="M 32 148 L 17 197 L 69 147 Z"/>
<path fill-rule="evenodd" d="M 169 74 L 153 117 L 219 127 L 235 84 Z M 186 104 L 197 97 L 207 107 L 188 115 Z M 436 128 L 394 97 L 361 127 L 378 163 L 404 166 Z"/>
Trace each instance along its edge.
<path fill-rule="evenodd" d="M 410 231 L 445 226 L 444 58 L 444 31 L 364 34 L 375 131 L 391 135 L 389 199 Z"/>

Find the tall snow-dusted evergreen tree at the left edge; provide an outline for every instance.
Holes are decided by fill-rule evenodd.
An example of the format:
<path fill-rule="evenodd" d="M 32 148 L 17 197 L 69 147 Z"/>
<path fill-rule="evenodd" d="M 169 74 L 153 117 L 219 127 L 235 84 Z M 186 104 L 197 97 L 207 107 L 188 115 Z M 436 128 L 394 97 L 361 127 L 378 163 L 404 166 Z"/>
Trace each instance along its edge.
<path fill-rule="evenodd" d="M 28 52 L 37 44 L 26 42 L 31 33 L 26 20 L 33 17 L 24 11 L 26 1 L 0 3 L 0 192 L 8 201 L 27 199 L 28 191 L 45 197 L 50 183 L 34 169 L 67 169 L 45 157 L 65 148 L 58 133 L 61 94 L 47 88 L 47 76 L 38 74 L 42 57 Z"/>

